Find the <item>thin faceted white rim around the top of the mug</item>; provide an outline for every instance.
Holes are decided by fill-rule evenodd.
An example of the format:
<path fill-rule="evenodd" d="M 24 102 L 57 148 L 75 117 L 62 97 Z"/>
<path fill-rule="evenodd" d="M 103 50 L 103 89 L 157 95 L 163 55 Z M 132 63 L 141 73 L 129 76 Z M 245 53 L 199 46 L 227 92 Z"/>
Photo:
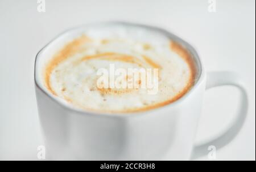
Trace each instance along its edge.
<path fill-rule="evenodd" d="M 110 113 L 110 112 L 102 112 L 102 111 L 90 111 L 90 110 L 85 110 L 85 109 L 80 109 L 80 108 L 76 108 L 75 106 L 72 106 L 70 103 L 68 103 L 67 101 L 64 101 L 62 98 L 57 97 L 53 94 L 51 94 L 49 91 L 47 91 L 46 88 L 44 88 L 44 86 L 42 84 L 39 83 L 39 74 L 37 72 L 37 68 L 38 66 L 38 58 L 40 57 L 40 54 L 43 53 L 43 51 L 52 44 L 52 42 L 56 41 L 57 38 L 71 32 L 74 31 L 76 29 L 82 29 L 82 28 L 86 28 L 92 25 L 114 25 L 114 24 L 120 24 L 120 25 L 128 25 L 128 26 L 134 26 L 134 27 L 141 27 L 141 28 L 148 28 L 157 32 L 162 32 L 164 33 L 164 35 L 168 36 L 171 38 L 171 40 L 174 40 L 175 42 L 179 43 L 180 45 L 183 45 L 185 47 L 186 50 L 189 51 L 189 53 L 192 54 L 193 57 L 193 61 L 197 62 L 197 79 L 195 81 L 195 84 L 193 84 L 193 86 L 191 87 L 191 89 L 189 89 L 189 91 L 187 93 L 185 93 L 182 97 L 180 97 L 178 100 L 164 105 L 164 106 L 160 106 L 158 108 L 152 108 L 152 109 L 148 109 L 148 110 L 143 110 L 143 111 L 135 111 L 135 112 L 130 112 L 130 113 Z M 67 109 L 69 111 L 75 111 L 76 114 L 82 114 L 82 115 L 104 115 L 106 116 L 110 116 L 110 117 L 122 117 L 122 118 L 126 118 L 126 117 L 134 117 L 137 115 L 143 115 L 143 114 L 149 114 L 148 112 L 152 112 L 152 111 L 160 111 L 160 110 L 164 110 L 167 108 L 174 108 L 177 105 L 180 105 L 181 102 L 183 102 L 184 100 L 187 100 L 187 98 L 189 97 L 189 95 L 197 88 L 199 87 L 200 83 L 203 81 L 205 72 L 204 72 L 204 68 L 203 68 L 203 64 L 202 61 L 199 57 L 199 55 L 197 54 L 197 51 L 195 50 L 195 48 L 193 48 L 193 46 L 191 46 L 190 44 L 188 44 L 188 42 L 184 41 L 182 38 L 174 35 L 173 33 L 167 31 L 166 29 L 160 28 L 160 27 L 155 27 L 153 25 L 147 25 L 147 24 L 138 24 L 138 23 L 131 23 L 131 22 L 126 22 L 126 21 L 100 21 L 100 22 L 94 22 L 94 23 L 88 23 L 88 24 L 83 24 L 77 27 L 73 27 L 70 29 L 66 29 L 65 31 L 61 32 L 59 35 L 57 35 L 56 37 L 54 37 L 51 41 L 49 41 L 46 45 L 43 46 L 42 49 L 40 49 L 38 51 L 38 53 L 36 54 L 35 57 L 35 63 L 34 63 L 34 82 L 35 82 L 35 86 L 36 88 L 38 88 L 42 93 L 44 93 L 47 97 L 51 98 L 51 100 L 55 101 L 58 105 L 61 106 L 61 108 Z"/>

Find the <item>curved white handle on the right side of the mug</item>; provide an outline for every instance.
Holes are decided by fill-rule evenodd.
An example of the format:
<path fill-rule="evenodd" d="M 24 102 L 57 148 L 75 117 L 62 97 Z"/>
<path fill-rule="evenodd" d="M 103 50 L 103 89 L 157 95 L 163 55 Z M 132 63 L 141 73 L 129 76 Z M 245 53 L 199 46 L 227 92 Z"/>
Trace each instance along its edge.
<path fill-rule="evenodd" d="M 218 87 L 221 85 L 233 85 L 240 89 L 242 96 L 240 100 L 240 109 L 238 111 L 236 120 L 230 124 L 228 130 L 222 133 L 216 139 L 208 141 L 207 143 L 196 145 L 193 148 L 191 159 L 194 160 L 201 156 L 205 156 L 209 153 L 209 146 L 213 145 L 216 149 L 220 149 L 224 147 L 226 144 L 230 143 L 236 137 L 238 132 L 241 130 L 243 123 L 245 122 L 247 108 L 248 108 L 248 97 L 246 93 L 246 88 L 240 78 L 234 72 L 209 72 L 207 74 L 207 84 L 206 89 L 210 89 L 213 87 Z"/>

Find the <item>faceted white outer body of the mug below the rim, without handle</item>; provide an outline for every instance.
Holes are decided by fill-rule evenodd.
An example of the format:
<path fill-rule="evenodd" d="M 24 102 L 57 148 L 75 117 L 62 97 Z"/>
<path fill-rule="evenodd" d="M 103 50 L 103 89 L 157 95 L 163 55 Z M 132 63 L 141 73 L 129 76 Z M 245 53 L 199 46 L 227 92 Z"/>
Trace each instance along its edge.
<path fill-rule="evenodd" d="M 188 160 L 205 82 L 175 104 L 140 114 L 88 114 L 68 109 L 38 87 L 47 157 L 53 160 Z"/>

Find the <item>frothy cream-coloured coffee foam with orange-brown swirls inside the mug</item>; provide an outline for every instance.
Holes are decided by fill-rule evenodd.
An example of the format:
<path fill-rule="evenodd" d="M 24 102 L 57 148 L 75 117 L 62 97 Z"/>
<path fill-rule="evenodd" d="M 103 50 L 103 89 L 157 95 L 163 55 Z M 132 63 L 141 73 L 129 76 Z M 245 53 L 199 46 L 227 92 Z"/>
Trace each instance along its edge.
<path fill-rule="evenodd" d="M 158 69 L 158 91 L 143 88 L 99 88 L 100 68 Z M 196 66 L 189 52 L 166 35 L 146 28 L 108 26 L 86 29 L 46 64 L 49 92 L 77 108 L 105 113 L 131 113 L 178 100 L 195 83 Z M 129 80 L 133 76 L 126 76 Z M 138 84 L 141 84 L 138 80 Z"/>

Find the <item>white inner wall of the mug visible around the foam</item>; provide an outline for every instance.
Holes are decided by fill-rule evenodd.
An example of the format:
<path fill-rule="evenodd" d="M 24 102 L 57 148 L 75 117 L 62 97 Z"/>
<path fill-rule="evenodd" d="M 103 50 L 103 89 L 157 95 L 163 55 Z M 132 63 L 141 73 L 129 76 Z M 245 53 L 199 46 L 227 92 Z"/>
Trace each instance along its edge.
<path fill-rule="evenodd" d="M 183 46 L 183 48 L 185 48 L 185 50 L 187 50 L 188 53 L 191 54 L 191 58 L 195 62 L 197 71 L 196 71 L 196 76 L 195 76 L 195 84 L 192 86 L 192 88 L 187 93 L 185 93 L 181 98 L 179 98 L 179 100 L 176 100 L 175 102 L 172 102 L 171 104 L 164 105 L 164 106 L 161 106 L 161 107 L 158 107 L 155 109 L 150 109 L 150 110 L 158 110 L 161 108 L 165 108 L 166 106 L 168 106 L 170 108 L 171 106 L 175 106 L 175 105 L 179 104 L 187 96 L 189 96 L 189 94 L 193 91 L 193 89 L 195 89 L 197 87 L 197 85 L 200 83 L 200 80 L 203 75 L 203 67 L 201 65 L 199 55 L 196 53 L 196 50 L 193 49 L 192 46 L 189 45 L 187 42 L 183 41 L 181 38 L 173 35 L 172 33 L 168 32 L 164 29 L 161 29 L 161 28 L 152 27 L 152 26 L 148 26 L 148 25 L 142 25 L 142 24 L 114 21 L 114 22 L 105 22 L 105 23 L 86 24 L 86 25 L 82 25 L 81 27 L 69 29 L 68 31 L 61 33 L 59 36 L 57 36 L 52 41 L 50 41 L 46 46 L 44 46 L 39 51 L 39 53 L 36 55 L 36 59 L 35 59 L 35 76 L 34 77 L 35 77 L 36 87 L 39 88 L 48 97 L 50 97 L 53 100 L 55 100 L 56 102 L 58 102 L 61 106 L 64 106 L 64 108 L 68 108 L 69 110 L 75 110 L 79 113 L 102 114 L 102 113 L 97 113 L 94 111 L 86 111 L 86 110 L 76 108 L 76 107 L 72 106 L 71 104 L 69 104 L 67 101 L 63 100 L 62 98 L 53 95 L 51 92 L 48 91 L 48 89 L 44 85 L 43 70 L 44 70 L 44 66 L 46 65 L 46 63 L 53 57 L 53 55 L 56 53 L 57 50 L 59 50 L 65 44 L 67 44 L 68 41 L 71 41 L 74 38 L 81 36 L 81 34 L 85 31 L 85 29 L 88 29 L 90 27 L 105 27 L 105 26 L 109 26 L 109 25 L 113 25 L 113 26 L 117 25 L 117 26 L 121 26 L 121 27 L 146 28 L 146 29 L 149 29 L 154 32 L 162 33 L 164 36 L 167 36 L 168 38 L 170 38 L 170 40 L 175 41 L 178 44 L 180 44 L 181 46 Z M 150 110 L 147 110 L 147 111 L 150 111 Z M 134 114 L 142 114 L 147 111 L 133 112 L 131 114 L 133 114 L 133 115 Z M 113 115 L 113 113 L 106 113 L 106 114 Z M 129 114 L 129 113 L 127 113 L 127 114 Z M 121 114 L 121 115 L 127 116 L 127 114 L 125 114 L 125 115 Z M 119 115 L 119 114 L 115 114 L 115 115 Z"/>

